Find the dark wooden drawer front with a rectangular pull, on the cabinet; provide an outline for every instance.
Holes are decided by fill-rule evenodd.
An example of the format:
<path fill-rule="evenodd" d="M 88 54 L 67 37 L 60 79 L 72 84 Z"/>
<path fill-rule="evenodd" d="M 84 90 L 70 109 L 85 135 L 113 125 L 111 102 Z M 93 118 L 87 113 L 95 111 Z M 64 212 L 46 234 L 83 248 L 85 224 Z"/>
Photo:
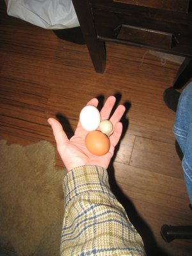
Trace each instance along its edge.
<path fill-rule="evenodd" d="M 169 12 L 168 12 L 169 13 Z M 113 12 L 92 8 L 99 40 L 150 47 L 182 56 L 192 54 L 192 26 L 140 12 Z M 187 55 L 186 55 L 187 54 Z"/>

